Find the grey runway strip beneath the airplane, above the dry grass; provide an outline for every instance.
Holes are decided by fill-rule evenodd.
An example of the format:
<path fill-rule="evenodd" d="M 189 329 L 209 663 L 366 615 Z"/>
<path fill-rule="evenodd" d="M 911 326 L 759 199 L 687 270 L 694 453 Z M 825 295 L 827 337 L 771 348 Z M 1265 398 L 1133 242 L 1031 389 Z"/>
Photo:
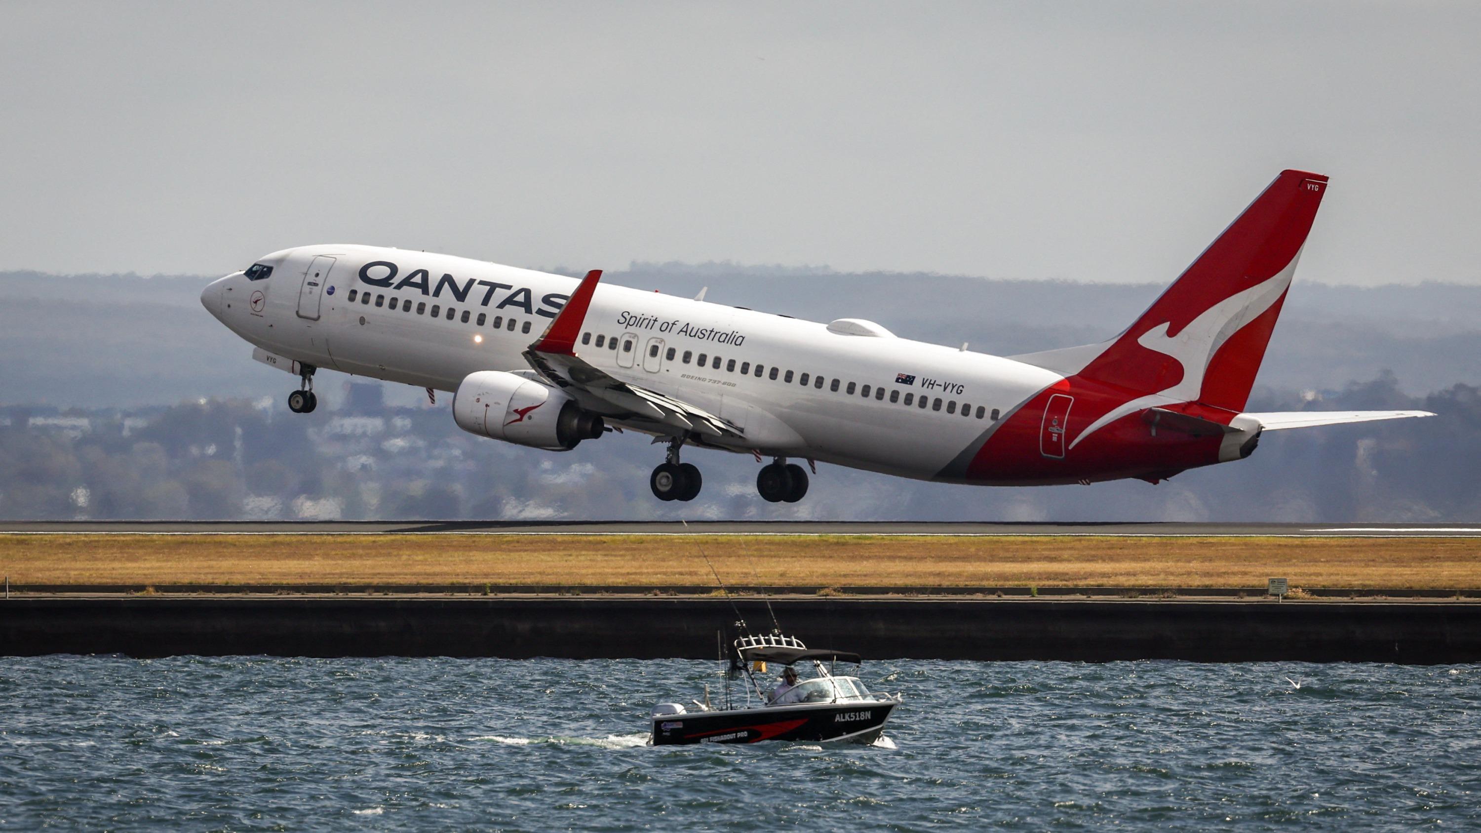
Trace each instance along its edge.
<path fill-rule="evenodd" d="M 0 534 L 111 535 L 1065 535 L 1477 538 L 1465 523 L 924 523 L 828 520 L 0 520 Z"/>

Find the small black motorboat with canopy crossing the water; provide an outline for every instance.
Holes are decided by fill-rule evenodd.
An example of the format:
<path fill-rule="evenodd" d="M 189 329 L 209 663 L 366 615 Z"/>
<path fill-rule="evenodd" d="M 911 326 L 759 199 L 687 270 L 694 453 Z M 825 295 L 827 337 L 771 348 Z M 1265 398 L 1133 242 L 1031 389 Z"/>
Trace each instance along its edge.
<path fill-rule="evenodd" d="M 874 743 L 900 695 L 871 694 L 856 676 L 835 676 L 837 663 L 859 666 L 857 654 L 807 648 L 797 637 L 780 634 L 740 636 L 732 645 L 730 668 L 721 703 L 692 700 L 690 706 L 659 703 L 653 707 L 653 746 L 757 741 L 844 741 Z M 798 679 L 775 697 L 757 679 L 764 664 L 812 666 L 813 676 Z M 745 700 L 732 697 L 730 680 L 745 676 Z M 801 677 L 801 674 L 798 674 Z"/>

